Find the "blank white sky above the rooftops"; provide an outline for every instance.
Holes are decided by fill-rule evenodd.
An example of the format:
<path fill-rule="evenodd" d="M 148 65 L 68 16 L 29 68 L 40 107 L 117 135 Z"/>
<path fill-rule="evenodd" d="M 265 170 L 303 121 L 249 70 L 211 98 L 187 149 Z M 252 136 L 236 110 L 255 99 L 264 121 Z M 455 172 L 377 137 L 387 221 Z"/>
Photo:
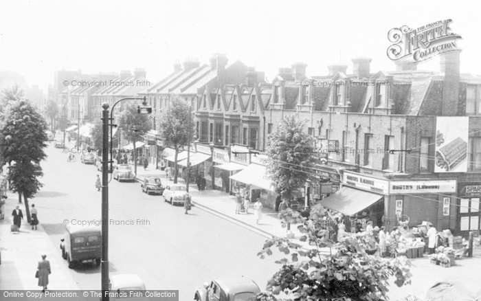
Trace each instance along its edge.
<path fill-rule="evenodd" d="M 227 54 L 265 71 L 307 64 L 327 74 L 352 58 L 372 58 L 371 72 L 393 70 L 386 55 L 394 27 L 452 19 L 462 36 L 461 72 L 481 74 L 481 1 L 4 1 L 0 0 L 0 71 L 23 75 L 46 91 L 54 71 L 84 74 L 144 67 L 157 82 L 176 59 L 208 63 Z M 439 70 L 434 58 L 418 69 Z"/>

